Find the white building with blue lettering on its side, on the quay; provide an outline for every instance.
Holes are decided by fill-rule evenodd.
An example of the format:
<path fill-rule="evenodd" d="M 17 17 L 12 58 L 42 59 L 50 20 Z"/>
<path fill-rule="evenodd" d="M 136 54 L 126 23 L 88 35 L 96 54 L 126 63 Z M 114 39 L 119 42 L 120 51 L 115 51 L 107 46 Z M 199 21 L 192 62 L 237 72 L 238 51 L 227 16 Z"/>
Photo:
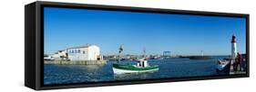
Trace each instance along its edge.
<path fill-rule="evenodd" d="M 102 60 L 99 47 L 96 45 L 84 45 L 67 49 L 68 60 Z"/>

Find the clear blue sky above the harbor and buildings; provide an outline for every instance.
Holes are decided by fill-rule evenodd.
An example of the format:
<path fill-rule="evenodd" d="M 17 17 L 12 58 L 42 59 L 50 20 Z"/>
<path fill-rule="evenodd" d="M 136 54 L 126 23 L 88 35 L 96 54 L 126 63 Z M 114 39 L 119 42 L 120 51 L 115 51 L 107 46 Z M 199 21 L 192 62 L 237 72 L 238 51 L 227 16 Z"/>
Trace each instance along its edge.
<path fill-rule="evenodd" d="M 229 55 L 231 35 L 239 52 L 246 50 L 245 18 L 185 14 L 148 14 L 45 7 L 45 53 L 96 44 L 117 54 Z"/>

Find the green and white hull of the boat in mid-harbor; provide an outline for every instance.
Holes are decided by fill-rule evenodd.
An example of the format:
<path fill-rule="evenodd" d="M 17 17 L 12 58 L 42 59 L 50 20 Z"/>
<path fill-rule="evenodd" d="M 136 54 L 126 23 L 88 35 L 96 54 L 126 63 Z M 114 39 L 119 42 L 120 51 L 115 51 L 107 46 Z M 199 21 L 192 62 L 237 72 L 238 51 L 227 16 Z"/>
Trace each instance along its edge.
<path fill-rule="evenodd" d="M 132 65 L 113 64 L 113 72 L 115 74 L 150 72 L 150 71 L 157 71 L 157 70 L 159 70 L 159 66 L 157 65 L 152 67 L 138 68 Z"/>

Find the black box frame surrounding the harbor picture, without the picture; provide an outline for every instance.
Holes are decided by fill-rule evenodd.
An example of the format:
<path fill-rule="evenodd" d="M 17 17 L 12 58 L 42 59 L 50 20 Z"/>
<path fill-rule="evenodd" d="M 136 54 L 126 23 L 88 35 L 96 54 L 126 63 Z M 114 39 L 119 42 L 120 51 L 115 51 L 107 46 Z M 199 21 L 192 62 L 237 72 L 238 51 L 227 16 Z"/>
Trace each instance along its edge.
<path fill-rule="evenodd" d="M 44 11 L 43 7 L 66 7 L 66 8 L 82 8 L 95 10 L 110 10 L 110 11 L 128 11 L 142 13 L 157 13 L 157 14 L 192 14 L 206 16 L 227 16 L 227 17 L 243 17 L 246 18 L 246 58 L 247 68 L 246 74 L 226 75 L 226 76 L 210 76 L 210 77 L 189 77 L 189 78 L 159 78 L 131 81 L 112 81 L 112 82 L 97 82 L 97 83 L 79 83 L 71 85 L 54 85 L 44 86 Z M 171 10 L 159 8 L 143 8 L 115 5 L 86 5 L 72 3 L 56 3 L 36 1 L 25 6 L 25 86 L 36 90 L 56 89 L 56 88 L 74 88 L 74 87 L 100 87 L 100 86 L 116 86 L 116 85 L 131 85 L 159 82 L 174 82 L 188 80 L 204 80 L 204 79 L 219 79 L 219 78 L 247 78 L 250 76 L 250 44 L 249 44 L 249 14 L 230 14 L 216 12 L 201 12 L 187 10 Z"/>

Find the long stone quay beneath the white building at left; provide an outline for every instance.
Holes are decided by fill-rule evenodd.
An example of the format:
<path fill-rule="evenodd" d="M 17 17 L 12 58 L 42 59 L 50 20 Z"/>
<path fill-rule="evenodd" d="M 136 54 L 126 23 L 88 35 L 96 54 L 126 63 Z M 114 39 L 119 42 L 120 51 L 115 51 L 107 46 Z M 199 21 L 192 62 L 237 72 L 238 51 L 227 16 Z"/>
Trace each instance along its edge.
<path fill-rule="evenodd" d="M 45 60 L 44 64 L 60 64 L 60 65 L 102 65 L 106 64 L 107 60 Z"/>

